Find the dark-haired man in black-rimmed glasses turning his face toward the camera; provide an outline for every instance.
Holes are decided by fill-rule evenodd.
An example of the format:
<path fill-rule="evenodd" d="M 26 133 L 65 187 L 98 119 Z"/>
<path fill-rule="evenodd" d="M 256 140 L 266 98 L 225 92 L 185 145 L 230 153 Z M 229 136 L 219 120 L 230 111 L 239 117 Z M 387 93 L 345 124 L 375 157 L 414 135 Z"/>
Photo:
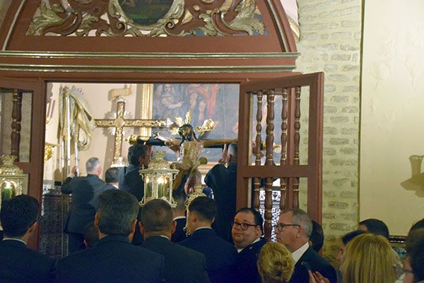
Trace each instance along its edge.
<path fill-rule="evenodd" d="M 232 241 L 237 248 L 237 282 L 260 283 L 261 277 L 257 269 L 258 255 L 266 241 L 261 238 L 264 234 L 262 215 L 250 207 L 237 211 L 232 222 Z"/>

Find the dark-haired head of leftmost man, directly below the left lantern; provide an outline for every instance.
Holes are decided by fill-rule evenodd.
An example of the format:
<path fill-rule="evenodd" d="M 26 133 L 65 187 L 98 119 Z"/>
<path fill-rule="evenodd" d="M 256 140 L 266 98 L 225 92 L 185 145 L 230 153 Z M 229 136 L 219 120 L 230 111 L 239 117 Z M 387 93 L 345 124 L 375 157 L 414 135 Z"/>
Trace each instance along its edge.
<path fill-rule="evenodd" d="M 4 236 L 21 237 L 37 221 L 38 201 L 30 195 L 18 195 L 1 204 L 0 221 Z"/>

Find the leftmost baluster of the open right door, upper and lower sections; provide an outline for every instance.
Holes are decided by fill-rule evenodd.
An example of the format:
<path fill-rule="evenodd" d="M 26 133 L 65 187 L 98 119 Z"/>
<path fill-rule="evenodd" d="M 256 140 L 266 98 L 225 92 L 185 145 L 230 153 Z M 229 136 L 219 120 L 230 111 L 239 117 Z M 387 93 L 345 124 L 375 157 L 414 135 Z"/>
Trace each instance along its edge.
<path fill-rule="evenodd" d="M 262 91 L 259 90 L 257 93 L 257 125 L 256 125 L 256 147 L 254 148 L 254 155 L 256 159 L 254 161 L 255 166 L 261 166 L 261 131 L 262 131 Z M 261 189 L 261 178 L 254 177 L 254 195 L 253 195 L 253 207 L 259 210 L 259 192 Z"/>

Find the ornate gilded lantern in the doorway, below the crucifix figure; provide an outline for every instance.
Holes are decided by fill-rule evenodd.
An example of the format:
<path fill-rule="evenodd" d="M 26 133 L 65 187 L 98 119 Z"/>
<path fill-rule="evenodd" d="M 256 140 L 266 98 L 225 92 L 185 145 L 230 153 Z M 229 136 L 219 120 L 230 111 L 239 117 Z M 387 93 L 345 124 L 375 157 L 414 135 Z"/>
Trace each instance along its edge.
<path fill-rule="evenodd" d="M 140 175 L 144 180 L 144 197 L 140 205 L 145 205 L 149 200 L 161 199 L 167 201 L 171 207 L 177 203 L 172 198 L 172 184 L 177 169 L 170 169 L 165 160 L 165 151 L 155 152 L 155 158 L 148 164 L 148 169 L 141 169 Z"/>

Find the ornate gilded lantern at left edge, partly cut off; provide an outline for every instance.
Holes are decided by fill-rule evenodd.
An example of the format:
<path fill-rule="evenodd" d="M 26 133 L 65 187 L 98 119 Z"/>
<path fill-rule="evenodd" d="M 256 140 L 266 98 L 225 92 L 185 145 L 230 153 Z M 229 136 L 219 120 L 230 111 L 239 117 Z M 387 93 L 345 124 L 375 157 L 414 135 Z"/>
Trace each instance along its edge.
<path fill-rule="evenodd" d="M 10 200 L 16 195 L 22 194 L 25 174 L 13 162 L 16 157 L 13 155 L 2 156 L 3 165 L 0 166 L 0 207 L 1 201 Z"/>

